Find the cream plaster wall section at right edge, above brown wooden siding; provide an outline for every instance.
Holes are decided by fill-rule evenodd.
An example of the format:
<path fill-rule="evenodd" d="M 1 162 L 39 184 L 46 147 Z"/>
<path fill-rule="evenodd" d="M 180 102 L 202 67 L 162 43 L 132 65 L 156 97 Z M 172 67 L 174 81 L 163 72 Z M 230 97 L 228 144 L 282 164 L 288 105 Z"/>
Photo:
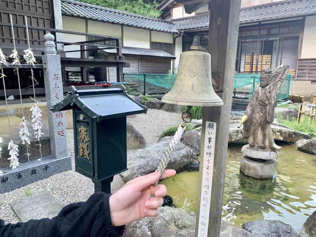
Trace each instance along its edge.
<path fill-rule="evenodd" d="M 301 58 L 316 58 L 316 16 L 307 16 L 305 21 Z"/>

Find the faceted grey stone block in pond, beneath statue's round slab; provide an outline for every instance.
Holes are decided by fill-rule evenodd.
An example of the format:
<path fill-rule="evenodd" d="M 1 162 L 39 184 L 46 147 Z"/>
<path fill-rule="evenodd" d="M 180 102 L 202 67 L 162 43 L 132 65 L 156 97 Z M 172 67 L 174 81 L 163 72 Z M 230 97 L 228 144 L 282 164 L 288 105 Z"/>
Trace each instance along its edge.
<path fill-rule="evenodd" d="M 276 176 L 277 160 L 254 161 L 243 155 L 240 161 L 240 171 L 256 179 L 273 179 Z"/>

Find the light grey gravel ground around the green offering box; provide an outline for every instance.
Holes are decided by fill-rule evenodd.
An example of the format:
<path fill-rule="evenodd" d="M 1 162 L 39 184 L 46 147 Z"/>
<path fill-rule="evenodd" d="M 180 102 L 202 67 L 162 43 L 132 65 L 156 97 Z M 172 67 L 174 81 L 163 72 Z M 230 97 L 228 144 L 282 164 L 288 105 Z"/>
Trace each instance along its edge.
<path fill-rule="evenodd" d="M 158 140 L 162 130 L 178 125 L 181 120 L 181 114 L 170 113 L 163 110 L 148 109 L 147 114 L 139 114 L 134 118 L 128 118 L 130 122 L 147 141 L 147 145 L 155 143 Z M 63 205 L 74 202 L 86 201 L 94 193 L 94 184 L 91 179 L 76 173 L 74 171 L 74 143 L 73 130 L 67 130 L 68 151 L 71 154 L 73 169 L 67 172 L 55 174 L 47 179 L 29 184 L 11 192 L 0 194 L 0 219 L 6 223 L 16 223 L 19 221 L 15 212 L 9 206 L 15 199 L 25 196 L 25 190 L 29 189 L 32 193 L 47 190 Z M 114 177 L 111 185 L 111 191 L 117 191 L 123 185 L 119 175 Z"/>

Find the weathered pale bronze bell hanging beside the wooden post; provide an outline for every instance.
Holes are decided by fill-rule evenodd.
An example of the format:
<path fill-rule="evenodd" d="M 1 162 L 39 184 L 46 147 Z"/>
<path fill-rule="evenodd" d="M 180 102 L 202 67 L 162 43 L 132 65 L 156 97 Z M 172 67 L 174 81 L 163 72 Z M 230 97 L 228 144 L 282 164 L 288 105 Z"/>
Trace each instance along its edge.
<path fill-rule="evenodd" d="M 222 106 L 223 100 L 212 85 L 211 55 L 194 36 L 190 51 L 180 54 L 178 74 L 173 88 L 162 102 L 186 106 Z"/>

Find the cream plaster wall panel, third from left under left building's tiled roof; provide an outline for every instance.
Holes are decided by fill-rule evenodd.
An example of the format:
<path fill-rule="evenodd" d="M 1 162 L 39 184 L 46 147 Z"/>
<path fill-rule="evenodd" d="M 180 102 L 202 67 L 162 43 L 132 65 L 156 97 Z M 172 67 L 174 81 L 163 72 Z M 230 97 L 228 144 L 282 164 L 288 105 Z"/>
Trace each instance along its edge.
<path fill-rule="evenodd" d="M 149 30 L 124 26 L 123 44 L 125 47 L 150 49 Z"/>

